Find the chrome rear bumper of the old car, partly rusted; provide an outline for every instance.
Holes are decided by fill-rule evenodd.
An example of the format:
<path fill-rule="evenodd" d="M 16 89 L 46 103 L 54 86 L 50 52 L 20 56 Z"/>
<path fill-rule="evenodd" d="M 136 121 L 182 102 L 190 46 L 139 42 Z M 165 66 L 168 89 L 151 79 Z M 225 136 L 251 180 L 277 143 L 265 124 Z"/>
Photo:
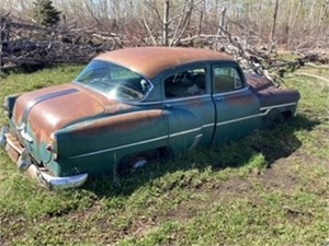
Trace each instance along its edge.
<path fill-rule="evenodd" d="M 26 172 L 33 178 L 38 179 L 49 188 L 76 188 L 82 186 L 88 174 L 79 174 L 68 177 L 54 177 L 46 168 L 38 167 L 31 160 L 27 148 L 22 147 L 19 141 L 9 132 L 8 127 L 2 127 L 0 132 L 0 147 L 4 148 L 9 156 L 16 163 L 20 171 Z"/>

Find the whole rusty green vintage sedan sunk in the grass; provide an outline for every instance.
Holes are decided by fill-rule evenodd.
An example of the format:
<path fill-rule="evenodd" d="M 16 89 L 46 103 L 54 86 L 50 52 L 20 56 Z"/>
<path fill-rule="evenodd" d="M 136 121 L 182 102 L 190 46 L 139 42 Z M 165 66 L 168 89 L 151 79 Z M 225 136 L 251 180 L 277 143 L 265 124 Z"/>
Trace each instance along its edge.
<path fill-rule="evenodd" d="M 49 187 L 241 138 L 296 114 L 299 93 L 207 49 L 143 47 L 94 58 L 67 84 L 8 96 L 0 143 Z M 218 156 L 220 159 L 220 156 Z"/>

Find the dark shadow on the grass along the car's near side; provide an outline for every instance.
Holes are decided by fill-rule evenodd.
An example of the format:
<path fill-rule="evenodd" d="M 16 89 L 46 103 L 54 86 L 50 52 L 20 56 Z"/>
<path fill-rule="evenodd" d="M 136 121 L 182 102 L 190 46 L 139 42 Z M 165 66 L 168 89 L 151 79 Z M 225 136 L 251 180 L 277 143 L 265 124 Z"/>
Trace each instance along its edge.
<path fill-rule="evenodd" d="M 271 166 L 276 160 L 290 156 L 302 142 L 296 131 L 310 131 L 319 121 L 303 115 L 270 130 L 257 130 L 251 136 L 228 144 L 197 149 L 173 161 L 149 163 L 146 167 L 132 172 L 114 180 L 112 177 L 91 179 L 83 187 L 99 197 L 129 196 L 151 180 L 178 171 L 212 168 L 220 172 L 226 167 L 238 168 L 248 165 L 254 156 L 262 155 L 263 167 Z"/>

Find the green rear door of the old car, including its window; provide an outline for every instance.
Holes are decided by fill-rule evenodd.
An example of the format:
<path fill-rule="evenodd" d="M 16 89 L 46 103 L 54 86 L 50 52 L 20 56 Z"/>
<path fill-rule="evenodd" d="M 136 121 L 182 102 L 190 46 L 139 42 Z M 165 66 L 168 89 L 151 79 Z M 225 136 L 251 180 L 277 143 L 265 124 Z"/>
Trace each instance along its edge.
<path fill-rule="evenodd" d="M 209 80 L 205 66 L 193 66 L 174 70 L 162 81 L 169 145 L 175 152 L 212 143 L 215 107 Z"/>

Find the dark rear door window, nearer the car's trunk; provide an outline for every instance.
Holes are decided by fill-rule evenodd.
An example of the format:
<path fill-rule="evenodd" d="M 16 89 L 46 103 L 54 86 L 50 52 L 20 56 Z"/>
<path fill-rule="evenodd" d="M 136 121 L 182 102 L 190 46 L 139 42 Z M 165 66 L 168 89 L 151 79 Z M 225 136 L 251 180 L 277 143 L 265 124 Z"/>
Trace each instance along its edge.
<path fill-rule="evenodd" d="M 177 72 L 164 80 L 167 98 L 205 94 L 205 69 L 191 69 Z"/>

